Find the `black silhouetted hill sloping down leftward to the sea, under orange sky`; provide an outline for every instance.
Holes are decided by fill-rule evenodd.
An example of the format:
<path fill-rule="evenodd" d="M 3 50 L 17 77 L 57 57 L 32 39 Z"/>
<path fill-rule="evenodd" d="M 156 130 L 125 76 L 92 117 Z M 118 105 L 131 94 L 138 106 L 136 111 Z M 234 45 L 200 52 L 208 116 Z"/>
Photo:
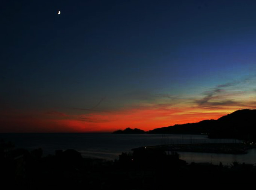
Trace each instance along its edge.
<path fill-rule="evenodd" d="M 153 134 L 208 134 L 209 138 L 256 140 L 256 109 L 242 109 L 217 120 L 177 124 L 150 130 Z"/>

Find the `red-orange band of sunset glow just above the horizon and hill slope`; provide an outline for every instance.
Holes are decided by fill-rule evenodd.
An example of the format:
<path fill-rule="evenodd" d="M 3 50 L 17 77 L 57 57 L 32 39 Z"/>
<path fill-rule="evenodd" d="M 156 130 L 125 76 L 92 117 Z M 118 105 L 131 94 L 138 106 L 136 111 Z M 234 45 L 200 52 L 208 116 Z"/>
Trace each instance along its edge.
<path fill-rule="evenodd" d="M 113 132 L 127 127 L 148 131 L 175 124 L 218 119 L 236 110 L 148 107 L 85 115 L 47 112 L 47 114 L 32 113 L 28 116 L 9 113 L 9 117 L 2 116 L 0 122 L 5 126 L 2 127 L 1 132 Z"/>

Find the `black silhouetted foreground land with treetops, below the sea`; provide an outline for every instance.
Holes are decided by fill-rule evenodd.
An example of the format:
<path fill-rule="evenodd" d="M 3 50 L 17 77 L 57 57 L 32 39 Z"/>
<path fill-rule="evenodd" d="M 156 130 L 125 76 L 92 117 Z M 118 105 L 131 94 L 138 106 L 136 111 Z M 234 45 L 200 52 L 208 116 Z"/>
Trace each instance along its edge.
<path fill-rule="evenodd" d="M 233 188 L 256 178 L 256 166 L 251 164 L 188 164 L 179 154 L 158 148 L 132 151 L 115 161 L 83 158 L 73 149 L 42 157 L 41 148 L 30 152 L 0 142 L 1 186 L 21 190 L 164 190 L 196 187 L 199 181 L 211 187 L 224 184 Z"/>

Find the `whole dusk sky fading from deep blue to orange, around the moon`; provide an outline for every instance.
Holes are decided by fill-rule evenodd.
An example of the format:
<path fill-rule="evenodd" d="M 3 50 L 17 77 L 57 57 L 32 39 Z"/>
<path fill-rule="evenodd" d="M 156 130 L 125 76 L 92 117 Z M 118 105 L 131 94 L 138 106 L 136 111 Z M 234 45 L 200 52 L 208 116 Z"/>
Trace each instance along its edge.
<path fill-rule="evenodd" d="M 151 130 L 256 108 L 254 0 L 2 0 L 0 23 L 0 132 Z"/>

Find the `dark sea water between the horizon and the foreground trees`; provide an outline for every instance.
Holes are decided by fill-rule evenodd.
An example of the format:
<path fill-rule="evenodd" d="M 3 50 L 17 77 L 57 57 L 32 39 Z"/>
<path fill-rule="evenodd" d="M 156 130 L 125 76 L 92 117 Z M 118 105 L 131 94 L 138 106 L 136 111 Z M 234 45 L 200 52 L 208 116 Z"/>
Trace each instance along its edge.
<path fill-rule="evenodd" d="M 42 148 L 43 156 L 55 150 L 74 149 L 85 158 L 118 160 L 122 152 L 133 148 L 164 144 L 239 143 L 236 139 L 208 139 L 207 135 L 112 134 L 112 133 L 0 133 L 0 139 L 12 142 L 16 148 L 32 151 Z M 178 152 L 187 163 L 231 165 L 233 162 L 256 165 L 256 149 L 247 154 L 215 154 Z"/>

